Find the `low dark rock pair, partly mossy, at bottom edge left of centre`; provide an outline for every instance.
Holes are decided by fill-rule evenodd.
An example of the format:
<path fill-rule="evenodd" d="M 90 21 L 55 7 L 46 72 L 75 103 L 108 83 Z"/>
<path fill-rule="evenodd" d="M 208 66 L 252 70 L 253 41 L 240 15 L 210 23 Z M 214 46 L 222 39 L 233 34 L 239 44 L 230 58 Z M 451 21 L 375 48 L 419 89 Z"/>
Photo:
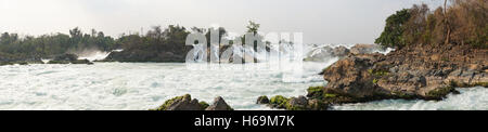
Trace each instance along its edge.
<path fill-rule="evenodd" d="M 190 94 L 166 101 L 156 109 L 150 110 L 233 110 L 222 97 L 216 97 L 213 105 L 191 97 Z"/>

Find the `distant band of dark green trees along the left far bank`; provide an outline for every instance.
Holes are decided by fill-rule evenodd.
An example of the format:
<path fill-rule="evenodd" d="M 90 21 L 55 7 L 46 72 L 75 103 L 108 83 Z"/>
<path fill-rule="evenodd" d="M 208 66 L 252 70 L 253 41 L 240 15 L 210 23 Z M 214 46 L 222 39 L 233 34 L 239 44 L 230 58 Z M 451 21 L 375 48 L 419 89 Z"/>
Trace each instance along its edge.
<path fill-rule="evenodd" d="M 103 31 L 92 29 L 86 34 L 79 28 L 70 29 L 69 35 L 59 32 L 39 37 L 20 37 L 17 34 L 3 32 L 0 37 L 0 55 L 51 57 L 82 50 L 112 51 L 151 44 L 184 44 L 189 34 L 184 27 L 174 25 L 169 25 L 166 29 L 154 26 L 146 35 L 121 35 L 117 39 L 105 36 Z"/>

